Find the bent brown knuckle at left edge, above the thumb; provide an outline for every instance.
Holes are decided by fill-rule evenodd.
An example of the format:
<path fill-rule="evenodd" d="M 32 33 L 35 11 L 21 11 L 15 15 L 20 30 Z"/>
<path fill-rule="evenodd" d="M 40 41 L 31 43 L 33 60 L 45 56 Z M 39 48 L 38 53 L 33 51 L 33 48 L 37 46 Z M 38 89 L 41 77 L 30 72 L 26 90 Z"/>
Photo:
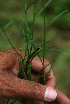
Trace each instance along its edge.
<path fill-rule="evenodd" d="M 20 51 L 15 48 L 16 51 L 21 54 Z M 22 51 L 23 56 L 25 51 Z M 6 71 L 6 73 L 12 72 L 17 76 L 20 69 L 20 56 L 14 51 L 13 48 L 5 49 L 3 52 L 0 52 L 0 69 Z"/>

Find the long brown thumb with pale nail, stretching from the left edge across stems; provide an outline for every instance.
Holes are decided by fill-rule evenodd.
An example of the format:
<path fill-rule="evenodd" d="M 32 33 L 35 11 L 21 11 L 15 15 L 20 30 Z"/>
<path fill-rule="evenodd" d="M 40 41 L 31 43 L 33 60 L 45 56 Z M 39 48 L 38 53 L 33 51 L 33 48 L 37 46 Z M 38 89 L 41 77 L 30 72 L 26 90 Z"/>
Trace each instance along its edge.
<path fill-rule="evenodd" d="M 0 100 L 18 97 L 50 102 L 57 96 L 51 87 L 19 79 L 14 75 L 1 74 L 0 82 Z"/>

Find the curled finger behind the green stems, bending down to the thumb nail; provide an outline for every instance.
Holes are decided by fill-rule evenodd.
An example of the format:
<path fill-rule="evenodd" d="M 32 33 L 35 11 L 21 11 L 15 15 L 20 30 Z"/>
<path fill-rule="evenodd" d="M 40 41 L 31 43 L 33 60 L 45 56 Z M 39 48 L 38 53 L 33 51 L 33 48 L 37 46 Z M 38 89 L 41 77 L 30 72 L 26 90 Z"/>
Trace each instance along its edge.
<path fill-rule="evenodd" d="M 43 58 L 41 58 L 41 59 L 43 60 Z M 44 60 L 44 67 L 46 67 L 44 69 L 44 73 L 46 74 L 46 73 L 48 73 L 48 71 L 51 68 L 51 65 L 49 64 L 49 62 L 47 60 Z M 36 73 L 39 73 L 42 69 L 43 69 L 43 65 L 42 65 L 41 60 L 39 59 L 38 56 L 34 57 L 34 59 L 32 61 L 32 70 L 34 70 Z M 51 69 L 50 74 L 51 75 L 46 78 L 46 85 L 50 86 L 52 88 L 55 88 L 55 86 L 56 86 L 56 77 L 55 77 L 53 69 Z"/>

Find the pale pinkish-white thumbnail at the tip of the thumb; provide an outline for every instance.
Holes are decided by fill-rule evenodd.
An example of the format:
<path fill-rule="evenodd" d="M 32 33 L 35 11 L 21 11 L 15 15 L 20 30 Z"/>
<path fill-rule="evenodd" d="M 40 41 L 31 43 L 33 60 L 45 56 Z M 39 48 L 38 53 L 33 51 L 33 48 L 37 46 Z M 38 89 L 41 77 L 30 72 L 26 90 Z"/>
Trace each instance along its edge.
<path fill-rule="evenodd" d="M 54 89 L 52 89 L 51 87 L 46 88 L 45 95 L 44 95 L 44 99 L 46 101 L 53 101 L 56 99 L 56 97 L 57 97 L 57 93 Z"/>

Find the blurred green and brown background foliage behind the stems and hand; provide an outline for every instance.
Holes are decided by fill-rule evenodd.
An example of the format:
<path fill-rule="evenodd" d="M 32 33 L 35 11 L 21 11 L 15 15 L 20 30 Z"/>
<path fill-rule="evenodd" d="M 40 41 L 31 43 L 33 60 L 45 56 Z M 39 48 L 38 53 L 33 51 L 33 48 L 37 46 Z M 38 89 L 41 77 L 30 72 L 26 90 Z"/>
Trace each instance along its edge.
<path fill-rule="evenodd" d="M 48 0 L 46 0 L 47 2 Z M 27 7 L 33 0 L 26 0 Z M 42 1 L 39 0 L 37 12 L 42 8 Z M 46 25 L 48 25 L 58 14 L 68 10 L 60 18 L 64 18 L 53 24 L 46 34 L 46 41 L 51 41 L 46 46 L 53 49 L 62 49 L 70 41 L 70 0 L 52 0 L 46 8 Z M 23 0 L 0 0 L 0 21 L 5 26 L 10 19 L 21 29 L 25 31 L 25 13 Z M 33 20 L 33 5 L 28 10 L 28 25 L 31 27 Z M 8 37 L 14 47 L 25 49 L 23 34 L 11 24 L 6 28 Z M 35 22 L 34 44 L 43 44 L 43 13 L 41 13 Z M 7 38 L 0 28 L 0 51 L 5 48 L 11 48 Z M 65 48 L 70 51 L 70 43 Z M 45 58 L 50 62 L 55 61 L 60 51 L 46 49 Z M 42 54 L 41 54 L 42 56 Z M 55 63 L 54 72 L 57 78 L 57 86 L 70 98 L 70 52 L 62 52 Z"/>

